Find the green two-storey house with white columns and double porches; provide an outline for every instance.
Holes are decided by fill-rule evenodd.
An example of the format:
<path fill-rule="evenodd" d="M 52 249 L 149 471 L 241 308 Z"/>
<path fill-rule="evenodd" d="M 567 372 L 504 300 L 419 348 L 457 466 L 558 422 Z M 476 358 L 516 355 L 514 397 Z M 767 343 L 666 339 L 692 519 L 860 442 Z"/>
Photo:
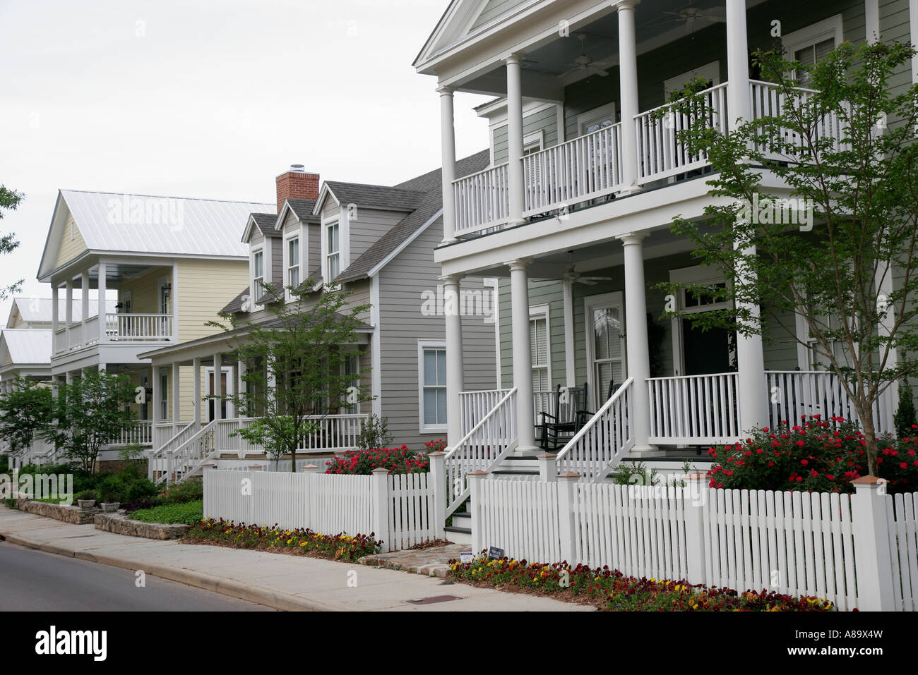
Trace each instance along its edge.
<path fill-rule="evenodd" d="M 905 8 L 887 0 L 453 0 L 414 61 L 437 78 L 443 166 L 455 151 L 453 94 L 494 98 L 476 109 L 489 123 L 487 167 L 443 172 L 444 238 L 434 258 L 445 278 L 499 279 L 501 363 L 497 391 L 448 381 L 449 396 L 493 402 L 471 406 L 482 412 L 450 437 L 450 460 L 473 458 L 471 426 L 504 418 L 509 405 L 516 435 L 473 464 L 500 470 L 507 458 L 532 458 L 541 445 L 536 414 L 564 409 L 555 407 L 558 386 L 577 393 L 588 422 L 552 449 L 559 466 L 590 480 L 623 457 L 685 455 L 678 448 L 730 441 L 801 412 L 850 412 L 834 376 L 813 371 L 810 350 L 793 336 L 701 334 L 659 318 L 670 302 L 687 312 L 716 305 L 690 293 L 666 297 L 656 283 L 722 282 L 670 231 L 674 216 L 699 218 L 711 204 L 711 170 L 680 151 L 678 120 L 667 124 L 661 106 L 703 78 L 706 104 L 724 126 L 754 119 L 773 85 L 756 80 L 752 51 L 780 44 L 812 63 L 843 40 L 882 32 L 908 41 Z M 906 71 L 894 86 L 912 82 Z M 769 172 L 762 186 L 789 196 Z M 805 326 L 795 328 L 805 343 Z M 447 331 L 447 359 L 463 353 L 463 334 Z M 893 401 L 890 391 L 879 406 L 881 428 L 891 428 Z M 459 495 L 453 510 L 467 491 L 451 495 Z"/>

